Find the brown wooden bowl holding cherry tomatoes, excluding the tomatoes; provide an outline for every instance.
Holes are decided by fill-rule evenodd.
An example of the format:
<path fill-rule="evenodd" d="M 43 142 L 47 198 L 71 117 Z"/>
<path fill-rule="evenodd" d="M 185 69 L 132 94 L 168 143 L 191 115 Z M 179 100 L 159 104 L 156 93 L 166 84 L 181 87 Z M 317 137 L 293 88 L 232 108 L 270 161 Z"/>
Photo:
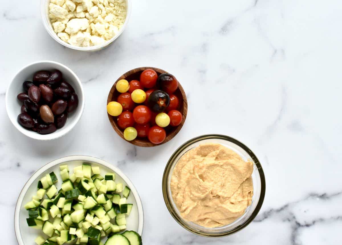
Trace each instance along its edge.
<path fill-rule="evenodd" d="M 140 74 L 146 69 L 155 70 L 157 72 L 158 76 L 162 73 L 166 73 L 166 71 L 158 69 L 158 68 L 154 68 L 154 67 L 140 67 L 140 68 L 135 68 L 133 70 L 126 72 L 125 74 L 120 76 L 116 80 L 116 82 L 113 84 L 113 86 L 111 87 L 109 94 L 108 94 L 107 105 L 110 101 L 116 101 L 118 96 L 120 95 L 120 93 L 116 90 L 116 83 L 119 80 L 126 79 L 128 82 L 130 82 L 131 80 L 138 80 L 139 81 L 140 80 Z M 178 110 L 182 113 L 183 120 L 182 120 L 181 124 L 178 125 L 177 127 L 170 127 L 170 130 L 166 132 L 167 134 L 166 134 L 165 140 L 162 143 L 157 144 L 157 145 L 164 144 L 164 143 L 168 142 L 170 139 L 172 139 L 181 130 L 181 128 L 183 127 L 183 124 L 185 122 L 185 119 L 186 119 L 186 114 L 187 114 L 187 110 L 188 110 L 188 103 L 186 100 L 186 95 L 185 95 L 184 89 L 183 89 L 183 87 L 179 81 L 178 81 L 178 88 L 173 94 L 176 95 L 179 99 Z M 117 117 L 113 117 L 113 116 L 108 114 L 108 119 L 109 119 L 110 124 L 113 126 L 114 130 L 118 133 L 118 135 L 120 135 L 121 138 L 124 139 L 123 130 L 121 128 L 119 128 L 118 123 L 117 123 Z M 147 137 L 146 138 L 137 137 L 134 140 L 131 140 L 128 142 L 133 144 L 133 145 L 142 146 L 142 147 L 157 146 L 156 144 L 149 142 Z"/>

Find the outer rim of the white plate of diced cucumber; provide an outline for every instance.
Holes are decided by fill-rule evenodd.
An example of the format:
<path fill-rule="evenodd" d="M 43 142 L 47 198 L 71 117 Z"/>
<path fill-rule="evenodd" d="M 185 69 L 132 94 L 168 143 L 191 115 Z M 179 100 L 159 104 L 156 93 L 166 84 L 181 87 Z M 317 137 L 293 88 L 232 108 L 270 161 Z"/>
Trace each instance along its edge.
<path fill-rule="evenodd" d="M 120 175 L 120 177 L 130 186 L 131 188 L 131 193 L 134 196 L 134 199 L 136 201 L 136 206 L 138 208 L 138 216 L 139 216 L 139 223 L 138 223 L 138 230 L 137 233 L 142 235 L 143 233 L 143 225 L 144 225 L 144 211 L 143 211 L 143 205 L 140 199 L 140 196 L 138 192 L 136 191 L 135 186 L 133 183 L 130 181 L 130 179 L 117 167 L 113 166 L 112 164 L 108 163 L 107 161 L 97 158 L 97 157 L 92 157 L 92 156 L 86 156 L 86 155 L 74 155 L 74 156 L 67 156 L 67 157 L 62 157 L 58 158 L 56 160 L 53 160 L 47 164 L 45 164 L 43 167 L 38 169 L 26 182 L 24 185 L 22 191 L 19 194 L 18 200 L 15 205 L 15 211 L 14 211 L 14 232 L 15 236 L 17 239 L 17 242 L 19 245 L 25 245 L 23 238 L 20 233 L 20 225 L 19 225 L 19 213 L 20 209 L 23 203 L 24 196 L 28 190 L 28 188 L 31 186 L 31 184 L 36 181 L 37 177 L 43 173 L 44 171 L 47 171 L 49 168 L 56 166 L 57 164 L 67 162 L 67 161 L 76 161 L 76 160 L 83 160 L 83 161 L 93 161 L 98 164 L 101 164 L 111 170 L 113 170 L 115 173 Z"/>

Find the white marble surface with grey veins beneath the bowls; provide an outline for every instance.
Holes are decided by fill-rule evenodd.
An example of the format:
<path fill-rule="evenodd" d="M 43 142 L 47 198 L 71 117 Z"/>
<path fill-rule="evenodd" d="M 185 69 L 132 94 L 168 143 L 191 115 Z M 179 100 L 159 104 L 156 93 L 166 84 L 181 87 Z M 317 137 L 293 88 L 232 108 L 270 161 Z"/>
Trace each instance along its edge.
<path fill-rule="evenodd" d="M 27 179 L 43 164 L 75 154 L 103 158 L 130 177 L 144 204 L 144 244 L 341 244 L 341 1 L 133 0 L 125 32 L 95 53 L 55 42 L 41 23 L 38 2 L 1 1 L 3 244 L 16 244 L 13 211 Z M 12 77 L 37 60 L 69 66 L 85 90 L 80 122 L 51 142 L 20 134 L 5 112 Z M 139 66 L 173 73 L 189 103 L 181 132 L 150 149 L 124 142 L 105 110 L 113 82 Z M 243 231 L 218 239 L 185 231 L 161 193 L 172 152 L 205 133 L 244 142 L 266 175 L 258 217 Z"/>

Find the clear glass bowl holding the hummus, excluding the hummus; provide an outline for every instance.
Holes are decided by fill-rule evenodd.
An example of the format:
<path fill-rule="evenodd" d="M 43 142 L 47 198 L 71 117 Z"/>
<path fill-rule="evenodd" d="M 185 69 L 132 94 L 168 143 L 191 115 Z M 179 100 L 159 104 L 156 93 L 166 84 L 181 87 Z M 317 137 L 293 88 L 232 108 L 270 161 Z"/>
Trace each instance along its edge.
<path fill-rule="evenodd" d="M 206 228 L 183 219 L 172 199 L 170 189 L 171 175 L 176 163 L 185 154 L 185 152 L 203 143 L 221 144 L 237 152 L 245 161 L 250 160 L 253 162 L 252 181 L 254 190 L 251 205 L 247 207 L 244 215 L 235 220 L 233 223 L 216 228 Z M 247 146 L 229 136 L 208 134 L 188 140 L 173 153 L 164 171 L 162 189 L 165 204 L 169 209 L 169 212 L 184 229 L 200 236 L 222 237 L 232 235 L 244 229 L 250 222 L 252 222 L 252 220 L 257 216 L 264 201 L 266 185 L 265 175 L 261 164 L 258 158 Z"/>

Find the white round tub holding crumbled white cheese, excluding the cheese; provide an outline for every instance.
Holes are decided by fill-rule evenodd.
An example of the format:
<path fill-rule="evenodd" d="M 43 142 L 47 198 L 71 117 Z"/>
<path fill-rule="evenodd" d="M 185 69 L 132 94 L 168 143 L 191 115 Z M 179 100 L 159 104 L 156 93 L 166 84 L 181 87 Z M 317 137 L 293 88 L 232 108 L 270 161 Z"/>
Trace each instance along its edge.
<path fill-rule="evenodd" d="M 50 36 L 53 39 L 55 39 L 57 42 L 59 42 L 60 44 L 64 45 L 65 47 L 68 47 L 71 49 L 76 49 L 76 50 L 81 50 L 81 51 L 97 51 L 97 50 L 104 49 L 107 46 L 109 46 L 110 44 L 112 44 L 121 35 L 123 30 L 126 28 L 128 21 L 129 21 L 129 18 L 131 16 L 132 0 L 125 0 L 125 1 L 126 1 L 126 5 L 127 5 L 126 20 L 123 23 L 123 26 L 121 27 L 121 29 L 119 30 L 117 35 L 115 35 L 110 40 L 106 41 L 103 45 L 97 45 L 97 46 L 91 46 L 91 47 L 77 47 L 74 45 L 70 45 L 57 36 L 57 34 L 53 30 L 53 27 L 52 27 L 52 24 L 50 21 L 50 17 L 49 17 L 50 0 L 41 0 L 41 2 L 40 2 L 40 14 L 41 14 L 43 25 L 44 25 L 45 29 L 50 34 Z"/>

